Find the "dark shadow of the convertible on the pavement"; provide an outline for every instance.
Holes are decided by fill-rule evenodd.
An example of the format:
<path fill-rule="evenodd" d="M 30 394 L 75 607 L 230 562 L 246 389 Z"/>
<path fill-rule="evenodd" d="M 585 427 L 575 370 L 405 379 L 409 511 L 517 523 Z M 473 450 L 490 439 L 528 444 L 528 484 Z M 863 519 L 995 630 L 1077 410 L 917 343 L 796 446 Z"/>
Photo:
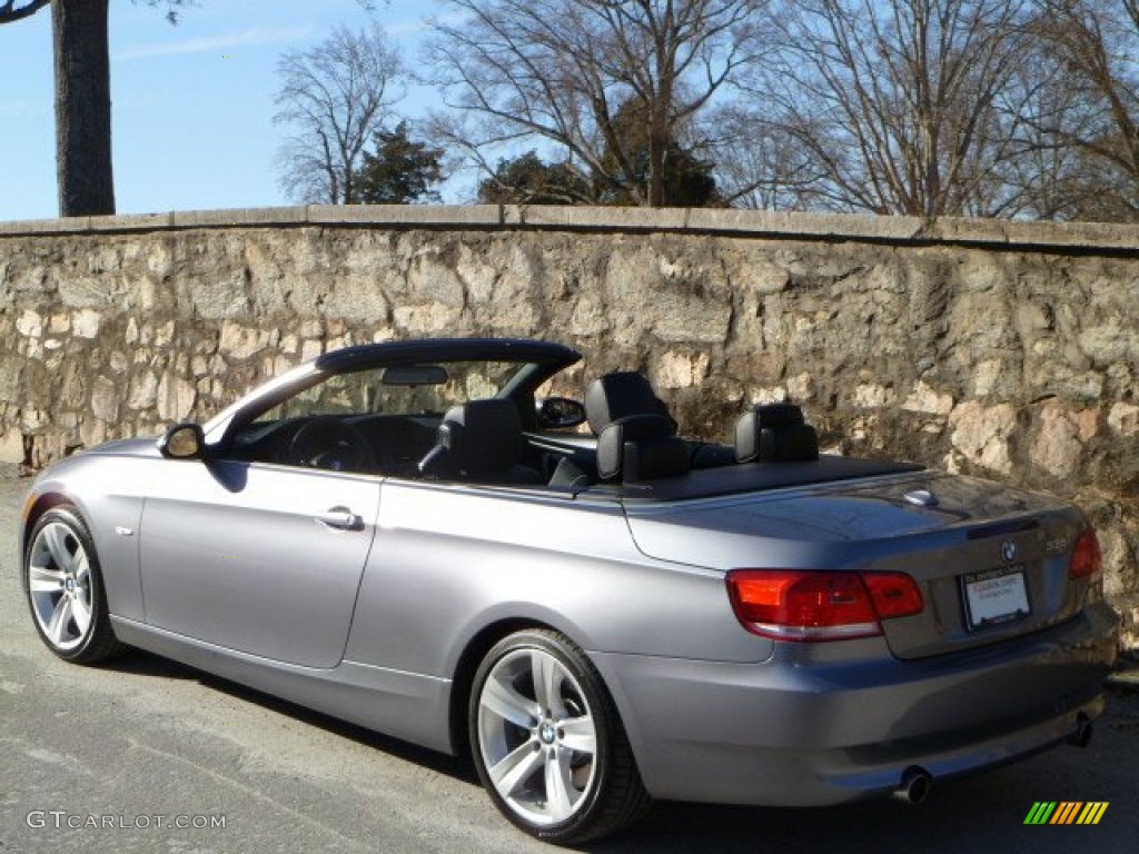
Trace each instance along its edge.
<path fill-rule="evenodd" d="M 465 758 L 346 723 L 148 652 L 132 650 L 104 667 L 144 678 L 195 680 L 210 690 L 222 691 L 456 781 L 480 786 L 474 766 Z M 1111 730 L 1124 729 L 1128 730 L 1124 734 L 1130 734 L 1136 721 L 1139 715 L 1121 717 L 1116 713 L 1101 725 Z M 1089 788 L 1088 780 L 1095 780 L 1096 765 L 1106 758 L 1100 752 L 1109 749 L 1109 746 L 1097 749 L 1093 740 L 1088 754 L 1060 747 L 980 777 L 935 783 L 929 799 L 919 806 L 890 799 L 811 808 L 658 802 L 631 830 L 577 849 L 596 854 L 755 854 L 757 851 L 818 854 L 835 849 L 843 854 L 913 854 L 916 851 L 921 854 L 973 851 L 1049 854 L 1062 849 L 1054 843 L 1065 844 L 1065 837 L 1029 836 L 1033 828 L 1024 824 L 1027 811 L 1039 799 L 1106 799 L 1109 791 L 1098 786 Z M 1074 764 L 1056 758 L 1070 755 L 1068 752 L 1082 758 Z M 487 803 L 487 810 L 491 808 Z M 1118 820 L 1116 815 L 1113 818 Z M 1107 828 L 1097 830 L 1100 837 L 1108 831 Z M 1117 831 L 1111 831 L 1113 839 L 1120 836 Z M 1125 830 L 1124 835 L 1130 832 Z"/>

